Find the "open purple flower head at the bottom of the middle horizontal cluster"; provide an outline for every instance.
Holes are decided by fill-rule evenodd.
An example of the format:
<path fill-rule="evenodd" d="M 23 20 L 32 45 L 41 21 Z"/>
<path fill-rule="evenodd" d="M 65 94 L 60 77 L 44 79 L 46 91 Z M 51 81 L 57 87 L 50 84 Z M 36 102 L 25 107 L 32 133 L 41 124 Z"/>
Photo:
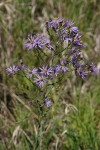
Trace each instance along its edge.
<path fill-rule="evenodd" d="M 39 75 L 36 76 L 37 78 L 34 78 L 34 83 L 36 83 L 40 88 L 43 87 L 45 82 L 47 82 L 47 78 Z"/>

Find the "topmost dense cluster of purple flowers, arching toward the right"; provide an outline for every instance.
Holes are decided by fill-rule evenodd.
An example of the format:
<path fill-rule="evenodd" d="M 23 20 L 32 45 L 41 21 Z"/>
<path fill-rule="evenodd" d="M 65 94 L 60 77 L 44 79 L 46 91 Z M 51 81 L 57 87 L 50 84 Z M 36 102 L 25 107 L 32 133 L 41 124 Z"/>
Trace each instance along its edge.
<path fill-rule="evenodd" d="M 74 22 L 63 21 L 62 18 L 58 18 L 56 20 L 52 20 L 46 23 L 46 27 L 49 30 L 50 28 L 56 33 L 57 36 L 61 37 L 61 39 L 68 40 L 71 42 L 71 45 L 76 46 L 84 46 L 81 41 L 81 34 L 78 30 L 78 27 L 73 26 Z"/>

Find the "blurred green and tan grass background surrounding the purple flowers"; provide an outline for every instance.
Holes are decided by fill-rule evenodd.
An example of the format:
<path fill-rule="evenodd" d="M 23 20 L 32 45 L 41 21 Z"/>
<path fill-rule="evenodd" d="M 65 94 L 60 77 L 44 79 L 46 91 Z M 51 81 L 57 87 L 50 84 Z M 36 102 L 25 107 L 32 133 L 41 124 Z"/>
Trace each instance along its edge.
<path fill-rule="evenodd" d="M 54 92 L 58 103 L 42 116 L 37 105 L 27 103 L 40 98 L 37 90 L 5 72 L 20 58 L 30 66 L 38 64 L 32 52 L 26 53 L 23 40 L 28 33 L 45 33 L 45 21 L 58 16 L 75 21 L 87 43 L 86 57 L 100 68 L 99 0 L 1 0 L 0 150 L 100 149 L 99 75 L 66 79 L 60 104 Z"/>

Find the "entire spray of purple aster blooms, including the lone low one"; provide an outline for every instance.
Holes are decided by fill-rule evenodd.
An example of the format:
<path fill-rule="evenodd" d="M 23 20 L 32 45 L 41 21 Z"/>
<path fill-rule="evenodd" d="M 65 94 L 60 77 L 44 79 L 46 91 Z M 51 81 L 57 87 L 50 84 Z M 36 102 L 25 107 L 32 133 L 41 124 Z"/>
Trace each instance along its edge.
<path fill-rule="evenodd" d="M 33 83 L 43 89 L 48 85 L 49 81 L 53 83 L 55 78 L 59 78 L 60 75 L 67 75 L 68 72 L 74 71 L 82 79 L 91 73 L 97 72 L 97 68 L 93 63 L 87 64 L 85 62 L 85 58 L 82 55 L 82 49 L 85 44 L 82 41 L 82 35 L 78 27 L 74 26 L 73 21 L 66 20 L 64 22 L 62 18 L 57 18 L 46 22 L 46 29 L 51 40 L 44 34 L 29 34 L 24 46 L 27 50 L 34 48 L 37 50 L 45 49 L 45 47 L 53 50 L 51 52 L 53 54 L 52 58 L 50 57 L 51 60 L 48 61 L 48 64 L 41 64 L 39 67 L 35 66 L 34 69 L 30 69 L 29 66 L 26 67 L 21 61 L 20 66 L 13 65 L 7 68 L 8 75 L 23 71 L 26 77 L 31 78 Z M 54 40 L 52 35 L 57 40 Z M 67 42 L 66 47 L 64 47 L 64 42 Z M 57 47 L 55 43 L 58 43 Z M 41 53 L 41 51 L 38 52 Z M 52 105 L 49 98 L 45 96 L 44 103 L 47 107 Z"/>

